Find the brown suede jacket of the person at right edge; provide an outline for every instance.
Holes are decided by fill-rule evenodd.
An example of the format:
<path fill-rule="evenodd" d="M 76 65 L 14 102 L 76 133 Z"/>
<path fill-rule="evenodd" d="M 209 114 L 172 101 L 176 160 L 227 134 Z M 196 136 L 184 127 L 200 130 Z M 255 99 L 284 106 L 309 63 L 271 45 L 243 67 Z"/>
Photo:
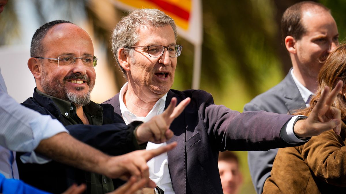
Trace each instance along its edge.
<path fill-rule="evenodd" d="M 346 193 L 345 127 L 297 147 L 280 148 L 263 193 Z"/>

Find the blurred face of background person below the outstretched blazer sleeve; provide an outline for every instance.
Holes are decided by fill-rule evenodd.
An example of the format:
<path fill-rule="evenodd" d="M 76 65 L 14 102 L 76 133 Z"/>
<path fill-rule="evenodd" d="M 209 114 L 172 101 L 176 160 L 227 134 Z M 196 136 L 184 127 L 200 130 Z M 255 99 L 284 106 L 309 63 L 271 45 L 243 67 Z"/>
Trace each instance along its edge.
<path fill-rule="evenodd" d="M 239 193 L 243 183 L 243 175 L 239 169 L 239 159 L 231 151 L 219 153 L 219 173 L 224 194 Z"/>

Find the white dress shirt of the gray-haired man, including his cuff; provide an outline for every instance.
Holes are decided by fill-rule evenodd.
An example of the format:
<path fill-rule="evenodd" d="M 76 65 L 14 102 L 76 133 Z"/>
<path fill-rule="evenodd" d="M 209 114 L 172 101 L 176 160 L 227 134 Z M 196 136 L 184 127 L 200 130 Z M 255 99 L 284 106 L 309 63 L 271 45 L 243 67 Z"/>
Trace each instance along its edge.
<path fill-rule="evenodd" d="M 166 104 L 167 94 L 165 94 L 162 98 L 160 98 L 156 102 L 153 109 L 148 113 L 146 117 L 137 117 L 133 113 L 130 113 L 130 111 L 128 111 L 123 101 L 124 94 L 127 91 L 127 86 L 128 86 L 128 83 L 122 86 L 119 93 L 119 105 L 120 105 L 121 116 L 127 125 L 135 120 L 147 122 L 148 120 L 153 118 L 155 115 L 159 115 L 163 113 L 165 104 Z M 291 120 L 288 122 L 286 126 L 286 130 L 284 131 L 285 133 L 282 133 L 282 138 L 286 140 L 286 142 L 298 143 L 298 142 L 306 141 L 306 140 L 298 139 L 297 136 L 295 136 L 293 133 L 293 124 L 298 116 L 294 116 L 291 118 Z M 146 149 L 147 150 L 155 149 L 164 145 L 167 145 L 167 144 L 166 143 L 154 144 L 154 143 L 148 142 Z M 171 180 L 169 169 L 168 169 L 167 153 L 163 153 L 160 156 L 154 157 L 153 159 L 148 161 L 147 165 L 149 167 L 149 178 L 153 180 L 156 183 L 156 185 L 164 191 L 165 194 L 175 194 L 172 188 L 172 180 Z"/>

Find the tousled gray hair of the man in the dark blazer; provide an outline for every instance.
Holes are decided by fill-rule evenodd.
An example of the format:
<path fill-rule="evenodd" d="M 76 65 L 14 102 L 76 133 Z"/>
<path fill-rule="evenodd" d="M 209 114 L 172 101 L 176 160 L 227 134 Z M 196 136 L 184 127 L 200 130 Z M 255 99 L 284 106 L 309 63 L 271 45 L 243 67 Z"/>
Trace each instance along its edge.
<path fill-rule="evenodd" d="M 137 30 L 140 27 L 148 26 L 158 28 L 167 25 L 171 25 L 173 28 L 174 38 L 176 40 L 177 31 L 174 20 L 167 16 L 167 14 L 165 14 L 163 11 L 158 9 L 137 9 L 119 21 L 113 30 L 112 51 L 114 58 L 116 59 L 126 79 L 126 71 L 120 66 L 118 60 L 119 49 L 124 48 L 125 53 L 132 58 L 134 50 L 130 49 L 130 47 L 136 45 L 136 43 L 139 41 L 139 34 L 137 33 Z"/>

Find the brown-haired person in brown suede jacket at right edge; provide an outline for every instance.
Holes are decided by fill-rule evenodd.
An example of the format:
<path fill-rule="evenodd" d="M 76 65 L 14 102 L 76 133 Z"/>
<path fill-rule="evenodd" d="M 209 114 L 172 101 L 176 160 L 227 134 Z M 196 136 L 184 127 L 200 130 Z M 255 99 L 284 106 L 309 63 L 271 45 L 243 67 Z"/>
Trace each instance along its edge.
<path fill-rule="evenodd" d="M 334 88 L 339 80 L 346 83 L 346 44 L 337 47 L 327 58 L 318 75 L 318 88 L 310 106 L 295 114 L 310 115 L 318 106 L 322 90 Z M 341 110 L 343 120 L 340 135 L 326 131 L 312 137 L 304 145 L 280 148 L 274 160 L 271 176 L 263 193 L 345 193 L 346 192 L 346 87 L 333 105 Z"/>

